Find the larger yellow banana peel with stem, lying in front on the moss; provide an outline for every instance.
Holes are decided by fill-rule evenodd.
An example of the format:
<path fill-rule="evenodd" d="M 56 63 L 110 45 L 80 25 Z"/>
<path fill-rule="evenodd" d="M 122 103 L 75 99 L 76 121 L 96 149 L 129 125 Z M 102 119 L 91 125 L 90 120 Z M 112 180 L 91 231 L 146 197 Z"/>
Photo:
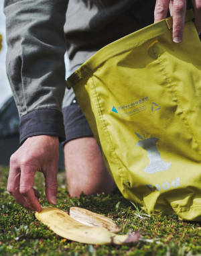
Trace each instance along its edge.
<path fill-rule="evenodd" d="M 91 245 L 123 245 L 137 242 L 139 232 L 133 234 L 115 234 L 100 226 L 87 226 L 73 218 L 66 212 L 54 207 L 44 207 L 41 212 L 36 212 L 36 218 L 46 224 L 60 237 L 72 241 Z"/>

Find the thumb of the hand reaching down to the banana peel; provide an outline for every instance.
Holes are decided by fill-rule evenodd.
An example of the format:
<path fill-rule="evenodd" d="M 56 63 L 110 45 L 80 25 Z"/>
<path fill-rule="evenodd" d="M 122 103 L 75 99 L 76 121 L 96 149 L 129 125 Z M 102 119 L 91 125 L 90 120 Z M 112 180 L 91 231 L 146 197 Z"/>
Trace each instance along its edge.
<path fill-rule="evenodd" d="M 56 204 L 56 194 L 57 194 L 57 169 L 58 167 L 50 167 L 46 171 L 46 198 L 50 204 Z"/>

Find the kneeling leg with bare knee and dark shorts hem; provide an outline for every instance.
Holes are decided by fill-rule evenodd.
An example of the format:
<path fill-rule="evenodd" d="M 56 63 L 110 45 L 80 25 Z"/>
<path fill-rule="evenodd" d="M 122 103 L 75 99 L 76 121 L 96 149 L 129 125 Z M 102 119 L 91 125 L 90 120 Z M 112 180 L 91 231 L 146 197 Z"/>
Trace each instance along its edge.
<path fill-rule="evenodd" d="M 103 155 L 76 99 L 63 108 L 66 141 L 64 162 L 70 196 L 111 192 L 115 181 L 108 173 Z"/>

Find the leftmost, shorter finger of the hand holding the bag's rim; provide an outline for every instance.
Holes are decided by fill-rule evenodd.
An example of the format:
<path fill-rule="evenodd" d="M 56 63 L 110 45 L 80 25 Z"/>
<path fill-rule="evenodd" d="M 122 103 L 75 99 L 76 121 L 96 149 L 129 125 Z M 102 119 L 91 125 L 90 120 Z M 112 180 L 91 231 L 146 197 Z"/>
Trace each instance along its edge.
<path fill-rule="evenodd" d="M 167 17 L 170 0 L 157 0 L 154 9 L 154 22 L 159 22 Z"/>

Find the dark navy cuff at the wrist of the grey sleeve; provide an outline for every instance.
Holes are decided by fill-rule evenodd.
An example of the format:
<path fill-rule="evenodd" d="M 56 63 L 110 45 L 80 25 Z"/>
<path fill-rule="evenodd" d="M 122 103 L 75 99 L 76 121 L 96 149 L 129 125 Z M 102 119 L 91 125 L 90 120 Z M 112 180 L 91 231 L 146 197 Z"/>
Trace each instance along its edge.
<path fill-rule="evenodd" d="M 62 113 L 58 110 L 33 110 L 21 117 L 19 125 L 19 143 L 36 135 L 58 136 L 60 142 L 65 140 Z"/>

